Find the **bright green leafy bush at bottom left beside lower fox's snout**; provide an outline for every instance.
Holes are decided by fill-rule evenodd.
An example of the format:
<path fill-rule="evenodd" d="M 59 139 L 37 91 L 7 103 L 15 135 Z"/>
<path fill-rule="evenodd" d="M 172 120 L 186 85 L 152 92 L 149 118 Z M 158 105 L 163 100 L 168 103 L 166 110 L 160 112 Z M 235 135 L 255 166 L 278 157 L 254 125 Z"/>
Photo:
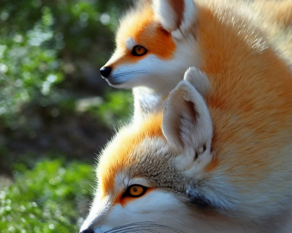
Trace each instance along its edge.
<path fill-rule="evenodd" d="M 78 203 L 89 197 L 93 168 L 45 160 L 33 170 L 24 164 L 15 169 L 15 183 L 0 191 L 0 232 L 78 232 Z"/>

